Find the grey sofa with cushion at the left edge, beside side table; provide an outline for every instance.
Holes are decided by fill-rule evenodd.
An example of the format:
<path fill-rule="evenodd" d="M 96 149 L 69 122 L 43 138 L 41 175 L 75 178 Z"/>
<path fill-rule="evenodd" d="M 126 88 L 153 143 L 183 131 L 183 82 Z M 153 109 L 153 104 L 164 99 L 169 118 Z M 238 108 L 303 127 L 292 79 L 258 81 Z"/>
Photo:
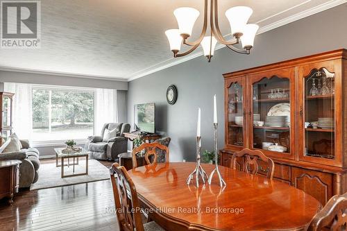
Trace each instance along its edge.
<path fill-rule="evenodd" d="M 39 178 L 40 153 L 29 146 L 28 140 L 21 139 L 22 149 L 19 152 L 0 153 L 0 160 L 20 160 L 19 188 L 30 187 Z"/>

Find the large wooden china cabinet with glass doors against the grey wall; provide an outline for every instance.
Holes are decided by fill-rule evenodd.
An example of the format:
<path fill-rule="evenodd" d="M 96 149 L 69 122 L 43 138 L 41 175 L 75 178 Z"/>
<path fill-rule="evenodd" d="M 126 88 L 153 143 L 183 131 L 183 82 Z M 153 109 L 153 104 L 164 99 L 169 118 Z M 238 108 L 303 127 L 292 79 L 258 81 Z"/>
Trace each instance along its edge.
<path fill-rule="evenodd" d="M 347 191 L 347 51 L 340 49 L 223 74 L 225 147 L 221 164 L 243 148 L 275 162 L 273 178 L 323 205 Z M 243 160 L 237 160 L 241 168 Z M 266 166 L 259 163 L 260 173 Z"/>

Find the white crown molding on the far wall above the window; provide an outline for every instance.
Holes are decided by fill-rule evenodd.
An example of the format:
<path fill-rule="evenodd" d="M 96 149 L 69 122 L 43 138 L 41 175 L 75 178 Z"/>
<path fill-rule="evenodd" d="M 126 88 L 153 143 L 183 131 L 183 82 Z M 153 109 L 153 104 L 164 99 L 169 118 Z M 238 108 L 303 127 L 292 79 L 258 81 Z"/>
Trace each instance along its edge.
<path fill-rule="evenodd" d="M 82 74 L 74 74 L 74 73 L 59 72 L 59 71 L 43 71 L 43 70 L 36 70 L 36 69 L 24 69 L 24 68 L 3 67 L 3 66 L 0 66 L 0 71 L 11 71 L 11 72 L 21 72 L 21 73 L 28 73 L 28 74 L 49 75 L 49 76 L 65 76 L 65 77 L 90 78 L 90 79 L 97 79 L 97 80 L 128 82 L 126 78 L 119 78 L 119 77 L 112 78 L 109 76 L 95 76 L 95 75 L 89 75 L 89 74 L 82 75 Z"/>

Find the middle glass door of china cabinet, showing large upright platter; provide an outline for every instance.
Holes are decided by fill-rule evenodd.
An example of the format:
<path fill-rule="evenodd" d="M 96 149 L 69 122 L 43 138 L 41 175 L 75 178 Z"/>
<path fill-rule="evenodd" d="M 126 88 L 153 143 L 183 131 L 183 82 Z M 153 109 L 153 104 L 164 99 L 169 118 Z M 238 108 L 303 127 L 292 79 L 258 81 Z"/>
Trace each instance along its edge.
<path fill-rule="evenodd" d="M 294 107 L 291 104 L 294 70 L 271 71 L 249 78 L 252 92 L 250 146 L 269 156 L 294 158 L 291 154 L 295 129 Z"/>

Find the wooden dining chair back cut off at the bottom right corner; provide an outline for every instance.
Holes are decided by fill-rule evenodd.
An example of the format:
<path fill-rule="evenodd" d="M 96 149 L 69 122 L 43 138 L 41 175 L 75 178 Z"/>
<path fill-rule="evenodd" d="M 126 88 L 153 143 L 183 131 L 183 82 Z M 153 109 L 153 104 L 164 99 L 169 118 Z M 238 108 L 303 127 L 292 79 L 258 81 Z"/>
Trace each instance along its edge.
<path fill-rule="evenodd" d="M 335 195 L 312 219 L 307 231 L 347 230 L 347 194 Z"/>

